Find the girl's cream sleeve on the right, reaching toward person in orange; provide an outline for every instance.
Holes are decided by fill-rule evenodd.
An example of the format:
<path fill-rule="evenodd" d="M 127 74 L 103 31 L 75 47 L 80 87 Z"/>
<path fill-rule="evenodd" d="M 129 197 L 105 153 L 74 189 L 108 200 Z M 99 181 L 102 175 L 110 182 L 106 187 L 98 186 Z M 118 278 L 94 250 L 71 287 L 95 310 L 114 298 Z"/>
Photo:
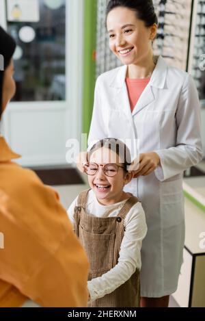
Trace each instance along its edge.
<path fill-rule="evenodd" d="M 107 273 L 87 282 L 90 301 L 113 292 L 141 268 L 141 242 L 147 233 L 146 218 L 140 203 L 126 215 L 125 232 L 120 247 L 118 264 Z"/>

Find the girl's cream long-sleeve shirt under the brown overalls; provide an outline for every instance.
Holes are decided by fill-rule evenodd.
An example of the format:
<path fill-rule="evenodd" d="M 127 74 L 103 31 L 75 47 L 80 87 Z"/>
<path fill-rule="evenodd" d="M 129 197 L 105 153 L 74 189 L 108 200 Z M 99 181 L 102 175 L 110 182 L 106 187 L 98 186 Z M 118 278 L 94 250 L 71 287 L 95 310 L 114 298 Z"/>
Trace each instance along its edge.
<path fill-rule="evenodd" d="M 124 203 L 126 203 L 126 200 L 113 205 L 101 205 L 98 203 L 94 192 L 90 190 L 85 211 L 87 214 L 98 217 L 118 216 Z M 77 206 L 77 198 L 68 208 L 68 216 L 72 223 L 74 223 L 75 206 Z M 133 205 L 128 214 L 126 214 L 124 227 L 125 232 L 120 247 L 118 264 L 107 273 L 102 274 L 101 277 L 87 282 L 90 301 L 102 298 L 106 294 L 113 292 L 130 279 L 137 268 L 141 269 L 141 242 L 147 233 L 146 218 L 141 203 L 138 202 Z"/>

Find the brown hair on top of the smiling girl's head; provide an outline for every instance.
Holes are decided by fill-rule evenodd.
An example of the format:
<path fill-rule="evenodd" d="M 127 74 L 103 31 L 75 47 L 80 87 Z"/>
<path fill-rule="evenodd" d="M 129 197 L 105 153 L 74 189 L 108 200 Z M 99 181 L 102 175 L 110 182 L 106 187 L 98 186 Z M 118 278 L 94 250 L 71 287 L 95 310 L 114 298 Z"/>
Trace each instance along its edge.
<path fill-rule="evenodd" d="M 124 142 L 116 138 L 104 138 L 103 140 L 99 140 L 98 142 L 96 142 L 96 144 L 92 146 L 92 149 L 90 149 L 90 151 L 87 153 L 88 162 L 92 153 L 94 153 L 94 151 L 97 151 L 98 149 L 101 149 L 102 147 L 115 152 L 120 157 L 120 161 L 122 162 L 122 164 L 124 164 L 124 170 L 125 172 L 127 172 L 127 166 L 131 165 L 131 152 L 126 144 L 124 144 Z"/>

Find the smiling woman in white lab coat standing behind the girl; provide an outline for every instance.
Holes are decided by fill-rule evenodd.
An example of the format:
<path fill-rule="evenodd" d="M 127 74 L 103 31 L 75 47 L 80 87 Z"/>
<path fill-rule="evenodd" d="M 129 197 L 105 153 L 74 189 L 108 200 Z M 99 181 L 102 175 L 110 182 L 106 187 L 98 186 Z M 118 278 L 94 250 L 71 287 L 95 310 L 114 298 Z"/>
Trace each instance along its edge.
<path fill-rule="evenodd" d="M 139 168 L 128 191 L 141 200 L 148 224 L 141 307 L 167 307 L 176 291 L 184 245 L 182 176 L 202 159 L 197 90 L 190 75 L 153 57 L 156 29 L 151 0 L 109 1 L 109 47 L 124 66 L 96 81 L 88 141 L 139 140 Z"/>

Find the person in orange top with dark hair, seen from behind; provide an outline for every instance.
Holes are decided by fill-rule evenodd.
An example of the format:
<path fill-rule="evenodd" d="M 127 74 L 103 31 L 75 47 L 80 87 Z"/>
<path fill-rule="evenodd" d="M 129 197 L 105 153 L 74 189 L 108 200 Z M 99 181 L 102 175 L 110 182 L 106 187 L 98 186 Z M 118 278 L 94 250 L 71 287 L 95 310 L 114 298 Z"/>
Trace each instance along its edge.
<path fill-rule="evenodd" d="M 15 92 L 14 40 L 0 27 L 0 118 Z M 26 133 L 25 133 L 26 134 Z M 0 307 L 86 307 L 88 262 L 57 194 L 0 136 Z M 2 237 L 1 237 L 2 239 Z"/>

